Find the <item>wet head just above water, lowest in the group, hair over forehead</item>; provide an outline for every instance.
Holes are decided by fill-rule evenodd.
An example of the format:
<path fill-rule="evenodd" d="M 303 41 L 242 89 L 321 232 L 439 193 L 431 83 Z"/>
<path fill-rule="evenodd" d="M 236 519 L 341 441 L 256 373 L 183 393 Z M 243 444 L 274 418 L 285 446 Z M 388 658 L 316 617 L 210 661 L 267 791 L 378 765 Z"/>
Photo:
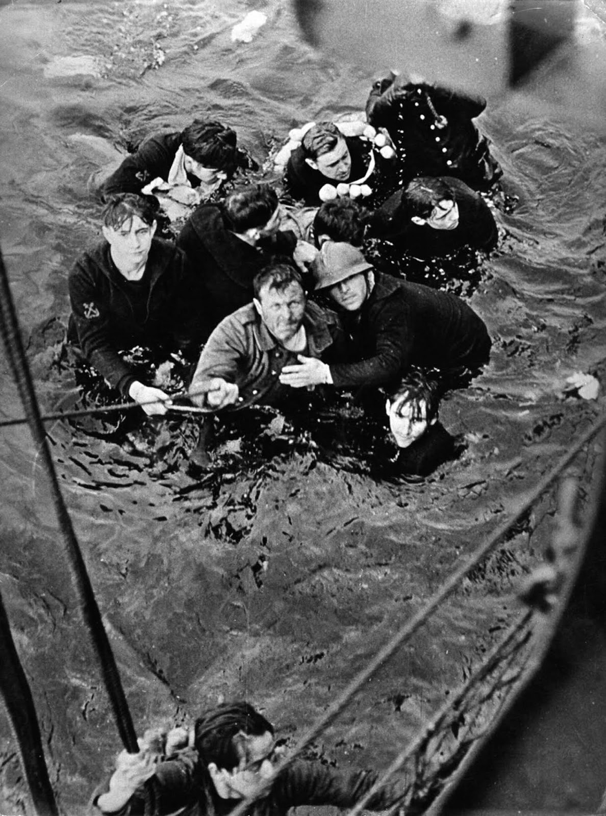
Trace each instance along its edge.
<path fill-rule="evenodd" d="M 438 420 L 439 388 L 421 370 L 410 370 L 385 401 L 390 430 L 400 448 L 408 448 Z"/>

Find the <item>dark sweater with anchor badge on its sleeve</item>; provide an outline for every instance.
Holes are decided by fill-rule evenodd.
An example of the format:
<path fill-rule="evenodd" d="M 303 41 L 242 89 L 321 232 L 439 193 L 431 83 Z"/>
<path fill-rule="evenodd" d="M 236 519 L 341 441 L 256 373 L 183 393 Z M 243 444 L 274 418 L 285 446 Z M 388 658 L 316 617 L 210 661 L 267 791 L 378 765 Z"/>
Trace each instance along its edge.
<path fill-rule="evenodd" d="M 100 243 L 69 273 L 68 336 L 91 366 L 126 395 L 138 377 L 118 352 L 142 345 L 190 349 L 195 355 L 203 300 L 183 252 L 154 238 L 141 280 L 146 304 L 139 297 L 133 302 L 132 284 L 118 272 L 109 249 L 109 243 Z"/>

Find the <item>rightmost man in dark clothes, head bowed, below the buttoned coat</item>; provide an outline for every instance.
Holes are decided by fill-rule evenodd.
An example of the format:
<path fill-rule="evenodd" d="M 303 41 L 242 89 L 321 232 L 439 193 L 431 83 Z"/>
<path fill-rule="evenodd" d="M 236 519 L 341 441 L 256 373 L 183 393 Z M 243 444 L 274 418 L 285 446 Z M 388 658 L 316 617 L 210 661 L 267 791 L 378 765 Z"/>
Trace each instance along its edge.
<path fill-rule="evenodd" d="M 466 246 L 489 252 L 497 244 L 497 224 L 483 197 L 448 176 L 413 179 L 377 215 L 385 215 L 385 223 L 377 228 L 375 221 L 371 234 L 415 258 L 443 258 Z"/>

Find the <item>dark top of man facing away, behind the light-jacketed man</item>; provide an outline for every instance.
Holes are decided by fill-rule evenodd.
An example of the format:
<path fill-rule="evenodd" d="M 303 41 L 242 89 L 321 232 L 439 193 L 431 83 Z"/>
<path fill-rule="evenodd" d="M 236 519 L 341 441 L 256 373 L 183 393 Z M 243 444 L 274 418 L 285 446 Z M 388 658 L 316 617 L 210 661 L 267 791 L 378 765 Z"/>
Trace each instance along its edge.
<path fill-rule="evenodd" d="M 251 246 L 229 228 L 221 205 L 202 204 L 189 216 L 177 238 L 203 286 L 210 331 L 236 309 L 252 301 L 252 281 L 274 255 L 288 255 L 295 233 L 278 232 Z"/>

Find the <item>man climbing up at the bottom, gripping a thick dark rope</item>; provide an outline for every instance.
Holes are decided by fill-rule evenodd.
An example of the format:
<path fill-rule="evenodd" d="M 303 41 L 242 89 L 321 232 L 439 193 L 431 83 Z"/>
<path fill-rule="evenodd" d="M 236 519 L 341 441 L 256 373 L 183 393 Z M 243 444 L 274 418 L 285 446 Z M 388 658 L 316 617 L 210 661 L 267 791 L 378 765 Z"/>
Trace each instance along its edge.
<path fill-rule="evenodd" d="M 160 816 L 226 816 L 262 783 L 269 787 L 248 812 L 283 816 L 299 805 L 351 808 L 378 778 L 370 770 L 337 770 L 303 760 L 274 774 L 274 726 L 249 703 L 224 703 L 204 712 L 195 722 L 192 742 L 166 758 L 145 743 L 136 754 L 122 752 L 105 790 L 93 798 L 96 808 L 105 814 L 144 814 L 144 785 L 154 778 Z M 387 809 L 404 792 L 403 784 L 386 783 L 366 807 Z"/>

